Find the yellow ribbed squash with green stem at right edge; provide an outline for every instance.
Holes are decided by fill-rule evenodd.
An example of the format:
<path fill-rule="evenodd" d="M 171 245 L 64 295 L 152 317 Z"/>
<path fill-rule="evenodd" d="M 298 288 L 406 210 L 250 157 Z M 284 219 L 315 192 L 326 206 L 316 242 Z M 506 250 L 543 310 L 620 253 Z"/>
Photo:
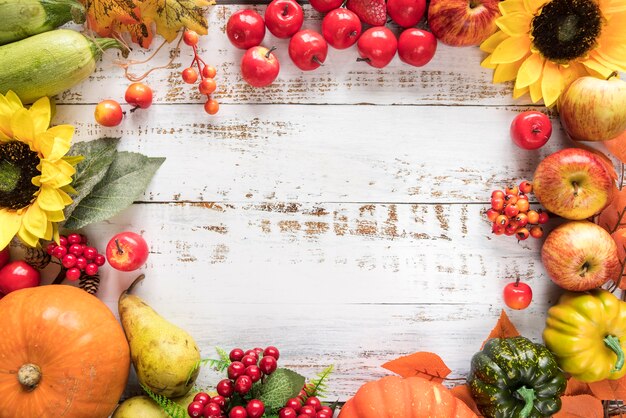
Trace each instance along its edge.
<path fill-rule="evenodd" d="M 619 379 L 626 374 L 626 302 L 602 289 L 568 292 L 548 310 L 543 340 L 576 379 Z"/>

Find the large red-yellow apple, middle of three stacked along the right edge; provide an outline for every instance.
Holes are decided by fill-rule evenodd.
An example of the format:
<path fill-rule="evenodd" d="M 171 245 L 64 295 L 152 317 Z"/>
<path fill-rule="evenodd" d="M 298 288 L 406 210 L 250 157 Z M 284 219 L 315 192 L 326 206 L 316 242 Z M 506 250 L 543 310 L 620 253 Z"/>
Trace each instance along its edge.
<path fill-rule="evenodd" d="M 566 219 L 587 219 L 611 201 L 615 184 L 599 155 L 566 148 L 548 155 L 537 166 L 533 191 L 550 212 Z"/>

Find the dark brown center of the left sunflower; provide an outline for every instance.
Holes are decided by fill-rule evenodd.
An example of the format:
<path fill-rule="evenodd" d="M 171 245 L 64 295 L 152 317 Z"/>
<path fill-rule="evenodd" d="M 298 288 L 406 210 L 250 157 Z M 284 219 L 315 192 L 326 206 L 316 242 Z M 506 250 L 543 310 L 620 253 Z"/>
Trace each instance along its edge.
<path fill-rule="evenodd" d="M 19 141 L 0 143 L 0 208 L 21 209 L 33 201 L 39 155 Z"/>

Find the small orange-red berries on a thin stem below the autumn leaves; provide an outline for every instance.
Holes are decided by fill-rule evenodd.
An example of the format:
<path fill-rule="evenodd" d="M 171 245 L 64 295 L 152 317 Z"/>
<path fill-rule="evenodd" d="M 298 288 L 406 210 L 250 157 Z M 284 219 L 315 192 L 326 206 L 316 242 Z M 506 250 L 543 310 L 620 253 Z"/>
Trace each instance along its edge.
<path fill-rule="evenodd" d="M 182 72 L 182 78 L 185 83 L 194 84 L 200 77 L 200 83 L 198 84 L 198 90 L 200 94 L 207 97 L 207 101 L 204 103 L 204 111 L 209 115 L 214 115 L 218 112 L 220 105 L 217 100 L 211 98 L 211 94 L 217 88 L 215 83 L 215 74 L 217 70 L 215 67 L 207 65 L 202 58 L 198 55 L 198 34 L 192 30 L 185 29 L 183 33 L 183 42 L 193 48 L 193 60 L 189 67 L 185 68 Z M 198 70 L 194 68 L 198 67 Z"/>

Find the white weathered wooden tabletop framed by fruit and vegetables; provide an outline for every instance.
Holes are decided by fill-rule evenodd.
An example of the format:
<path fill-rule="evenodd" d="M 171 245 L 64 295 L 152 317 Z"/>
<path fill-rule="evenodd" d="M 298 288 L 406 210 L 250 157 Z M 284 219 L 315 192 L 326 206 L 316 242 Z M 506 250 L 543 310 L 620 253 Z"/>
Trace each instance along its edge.
<path fill-rule="evenodd" d="M 214 346 L 273 344 L 282 366 L 307 376 L 335 364 L 332 400 L 414 351 L 437 352 L 451 377 L 464 376 L 517 277 L 534 300 L 509 313 L 539 340 L 559 293 L 540 242 L 492 236 L 481 211 L 493 189 L 531 179 L 540 159 L 565 145 L 558 121 L 540 151 L 516 148 L 509 125 L 529 99 L 491 84 L 478 48 L 442 44 L 421 69 L 396 56 L 377 70 L 351 48 L 331 49 L 323 68 L 303 73 L 287 41 L 268 33 L 281 73 L 251 88 L 239 75 L 243 51 L 224 32 L 241 7 L 213 7 L 200 42 L 218 69 L 218 115 L 206 115 L 179 77 L 189 48 L 175 70 L 148 78 L 155 104 L 118 128 L 93 119 L 95 103 L 123 101 L 129 83 L 114 55 L 59 98 L 55 122 L 75 124 L 77 140 L 119 136 L 123 150 L 167 157 L 141 201 L 87 231 L 99 248 L 123 230 L 146 237 L 138 294 L 187 329 L 204 357 Z M 308 5 L 305 16 L 305 28 L 319 30 Z M 99 296 L 116 311 L 134 277 L 107 269 Z M 216 381 L 203 372 L 199 383 Z"/>

